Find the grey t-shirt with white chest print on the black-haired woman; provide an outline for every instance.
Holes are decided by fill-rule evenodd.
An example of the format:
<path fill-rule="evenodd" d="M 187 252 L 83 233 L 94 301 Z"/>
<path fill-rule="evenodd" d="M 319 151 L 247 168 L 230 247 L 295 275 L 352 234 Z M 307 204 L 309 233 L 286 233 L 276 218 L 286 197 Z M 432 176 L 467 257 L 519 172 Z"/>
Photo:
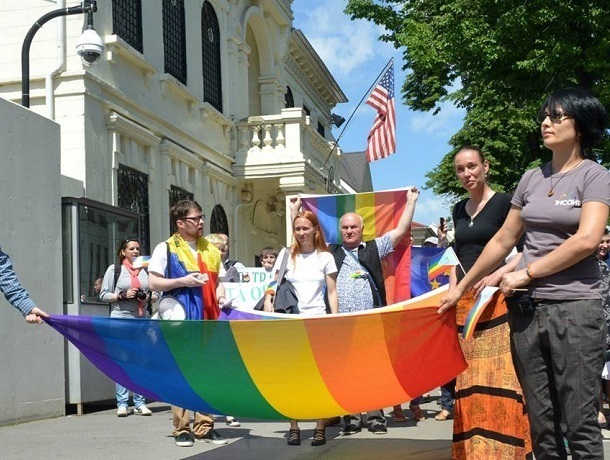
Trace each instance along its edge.
<path fill-rule="evenodd" d="M 553 189 L 553 195 L 548 196 Z M 512 204 L 521 209 L 525 245 L 519 268 L 550 253 L 578 230 L 582 205 L 595 201 L 610 206 L 610 173 L 591 160 L 568 171 L 551 175 L 546 163 L 527 171 L 513 195 Z M 535 273 L 534 273 L 535 275 Z M 599 267 L 595 253 L 554 275 L 532 282 L 539 299 L 598 299 Z"/>

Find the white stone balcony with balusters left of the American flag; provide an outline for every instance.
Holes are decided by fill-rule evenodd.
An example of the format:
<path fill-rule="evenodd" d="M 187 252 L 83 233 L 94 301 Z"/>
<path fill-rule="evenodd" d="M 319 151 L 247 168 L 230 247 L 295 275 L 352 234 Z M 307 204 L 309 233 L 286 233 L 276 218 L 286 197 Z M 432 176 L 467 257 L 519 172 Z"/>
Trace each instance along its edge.
<path fill-rule="evenodd" d="M 236 123 L 235 142 L 237 178 L 300 176 L 301 184 L 310 189 L 318 189 L 320 184 L 324 188 L 328 171 L 331 166 L 338 169 L 341 154 L 338 147 L 333 150 L 333 142 L 317 132 L 301 108 Z M 333 178 L 335 181 L 338 178 Z"/>

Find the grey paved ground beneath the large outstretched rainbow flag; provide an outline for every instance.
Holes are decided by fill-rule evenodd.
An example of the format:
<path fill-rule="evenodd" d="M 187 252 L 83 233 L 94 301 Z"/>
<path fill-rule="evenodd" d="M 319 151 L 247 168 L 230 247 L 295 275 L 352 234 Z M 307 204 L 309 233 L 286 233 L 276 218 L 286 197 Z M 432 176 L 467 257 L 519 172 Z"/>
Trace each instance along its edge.
<path fill-rule="evenodd" d="M 422 404 L 427 419 L 422 422 L 388 423 L 388 434 L 368 431 L 341 436 L 340 427 L 326 430 L 325 446 L 312 447 L 314 422 L 301 422 L 301 446 L 288 446 L 288 422 L 240 420 L 241 427 L 229 428 L 224 417 L 216 429 L 229 439 L 227 446 L 195 443 L 176 447 L 171 436 L 172 413 L 168 405 L 150 404 L 151 417 L 130 415 L 118 418 L 115 409 L 86 415 L 0 427 L 0 458 L 41 459 L 375 459 L 443 460 L 451 454 L 451 421 L 437 422 L 435 401 Z M 404 407 L 408 407 L 405 404 Z M 410 415 L 408 410 L 405 410 Z M 610 431 L 604 451 L 610 458 Z"/>

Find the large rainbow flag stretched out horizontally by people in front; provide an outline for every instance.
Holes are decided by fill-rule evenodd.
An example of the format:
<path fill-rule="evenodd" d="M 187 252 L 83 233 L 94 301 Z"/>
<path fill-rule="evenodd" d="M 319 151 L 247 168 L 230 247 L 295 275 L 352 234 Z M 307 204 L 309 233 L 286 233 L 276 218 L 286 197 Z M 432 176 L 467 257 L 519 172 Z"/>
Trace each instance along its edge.
<path fill-rule="evenodd" d="M 404 403 L 466 368 L 446 288 L 366 312 L 225 321 L 52 316 L 112 380 L 213 414 L 318 419 Z M 281 317 L 279 319 L 278 317 Z"/>

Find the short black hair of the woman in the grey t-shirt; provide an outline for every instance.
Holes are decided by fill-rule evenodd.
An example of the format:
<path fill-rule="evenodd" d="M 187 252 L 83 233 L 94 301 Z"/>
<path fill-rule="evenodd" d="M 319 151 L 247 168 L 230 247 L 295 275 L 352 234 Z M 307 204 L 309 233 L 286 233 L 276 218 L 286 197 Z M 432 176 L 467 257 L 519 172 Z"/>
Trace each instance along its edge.
<path fill-rule="evenodd" d="M 601 140 L 608 124 L 603 104 L 586 89 L 562 88 L 544 101 L 540 111 L 545 113 L 557 109 L 572 117 L 582 154 L 591 157 L 591 148 Z"/>

